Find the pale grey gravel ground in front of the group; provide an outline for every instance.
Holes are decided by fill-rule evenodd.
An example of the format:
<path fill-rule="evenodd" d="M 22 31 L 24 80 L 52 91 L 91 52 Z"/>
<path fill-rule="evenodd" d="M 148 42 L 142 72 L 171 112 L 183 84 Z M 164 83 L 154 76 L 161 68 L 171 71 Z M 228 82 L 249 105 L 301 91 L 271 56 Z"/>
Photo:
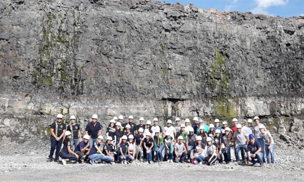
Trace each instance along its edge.
<path fill-rule="evenodd" d="M 41 145 L 43 144 L 43 145 Z M 143 181 L 188 180 L 192 181 L 304 181 L 303 154 L 296 147 L 275 149 L 275 164 L 264 167 L 235 162 L 215 166 L 181 163 L 133 164 L 67 164 L 46 162 L 49 153 L 47 141 L 23 144 L 0 142 L 0 181 Z M 292 151 L 292 152 L 291 152 Z M 232 158 L 234 153 L 232 150 Z M 248 175 L 250 173 L 250 175 Z"/>

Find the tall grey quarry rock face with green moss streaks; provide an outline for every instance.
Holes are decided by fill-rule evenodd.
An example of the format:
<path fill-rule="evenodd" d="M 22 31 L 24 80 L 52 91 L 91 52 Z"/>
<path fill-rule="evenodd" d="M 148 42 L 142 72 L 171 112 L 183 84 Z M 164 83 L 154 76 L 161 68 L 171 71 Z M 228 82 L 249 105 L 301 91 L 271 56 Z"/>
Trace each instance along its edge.
<path fill-rule="evenodd" d="M 300 131 L 304 17 L 139 0 L 0 2 L 0 135 L 57 113 L 135 122 L 199 116 Z M 294 125 L 292 125 L 293 123 Z"/>

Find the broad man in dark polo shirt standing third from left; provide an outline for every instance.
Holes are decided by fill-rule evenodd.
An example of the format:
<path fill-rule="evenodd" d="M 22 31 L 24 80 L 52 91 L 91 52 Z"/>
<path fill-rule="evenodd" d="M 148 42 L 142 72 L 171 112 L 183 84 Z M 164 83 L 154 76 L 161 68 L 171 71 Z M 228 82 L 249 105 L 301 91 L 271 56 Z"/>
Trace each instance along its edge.
<path fill-rule="evenodd" d="M 102 126 L 101 126 L 100 122 L 97 121 L 97 119 L 98 119 L 97 114 L 93 114 L 92 122 L 89 122 L 87 124 L 86 131 L 85 131 L 85 134 L 88 134 L 90 136 L 90 140 L 89 140 L 90 149 L 92 149 L 94 142 L 97 141 L 98 136 L 101 135 Z"/>

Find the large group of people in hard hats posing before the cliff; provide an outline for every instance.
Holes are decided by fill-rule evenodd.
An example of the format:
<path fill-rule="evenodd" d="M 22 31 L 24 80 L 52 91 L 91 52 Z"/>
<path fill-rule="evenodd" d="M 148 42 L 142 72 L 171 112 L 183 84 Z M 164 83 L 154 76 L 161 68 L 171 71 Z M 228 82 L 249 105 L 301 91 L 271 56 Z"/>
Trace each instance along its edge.
<path fill-rule="evenodd" d="M 234 147 L 236 162 L 259 162 L 263 166 L 265 157 L 268 163 L 274 163 L 274 140 L 271 133 L 260 123 L 256 116 L 248 119 L 247 126 L 232 120 L 233 125 L 227 126 L 219 119 L 214 124 L 206 125 L 202 119 L 193 118 L 193 124 L 185 119 L 180 124 L 180 119 L 175 119 L 175 124 L 169 119 L 166 126 L 159 125 L 158 118 L 153 124 L 147 120 L 144 124 L 143 117 L 139 124 L 133 122 L 133 116 L 128 117 L 124 123 L 123 116 L 114 117 L 106 128 L 106 140 L 101 134 L 102 125 L 98 116 L 94 114 L 92 121 L 85 128 L 84 136 L 81 135 L 80 125 L 75 123 L 75 116 L 70 116 L 70 124 L 62 123 L 62 115 L 57 115 L 57 121 L 51 125 L 51 151 L 48 162 L 62 163 L 79 161 L 81 163 L 97 161 L 105 163 L 132 163 L 132 162 L 181 162 L 192 164 L 214 165 L 231 162 L 231 145 Z M 252 126 L 252 122 L 255 125 Z M 64 138 L 65 136 L 65 138 Z M 64 139 L 63 139 L 64 138 Z M 104 144 L 103 144 L 104 142 Z M 61 149 L 61 146 L 63 147 Z"/>

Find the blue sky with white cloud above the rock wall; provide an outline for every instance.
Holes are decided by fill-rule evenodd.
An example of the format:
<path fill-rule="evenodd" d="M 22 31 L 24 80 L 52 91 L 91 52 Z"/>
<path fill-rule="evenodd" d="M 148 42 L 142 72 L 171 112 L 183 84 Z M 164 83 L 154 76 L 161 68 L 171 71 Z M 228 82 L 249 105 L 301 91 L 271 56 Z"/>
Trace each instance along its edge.
<path fill-rule="evenodd" d="M 201 9 L 214 8 L 219 11 L 252 12 L 271 16 L 304 16 L 304 0 L 162 0 L 167 3 L 181 3 Z"/>

